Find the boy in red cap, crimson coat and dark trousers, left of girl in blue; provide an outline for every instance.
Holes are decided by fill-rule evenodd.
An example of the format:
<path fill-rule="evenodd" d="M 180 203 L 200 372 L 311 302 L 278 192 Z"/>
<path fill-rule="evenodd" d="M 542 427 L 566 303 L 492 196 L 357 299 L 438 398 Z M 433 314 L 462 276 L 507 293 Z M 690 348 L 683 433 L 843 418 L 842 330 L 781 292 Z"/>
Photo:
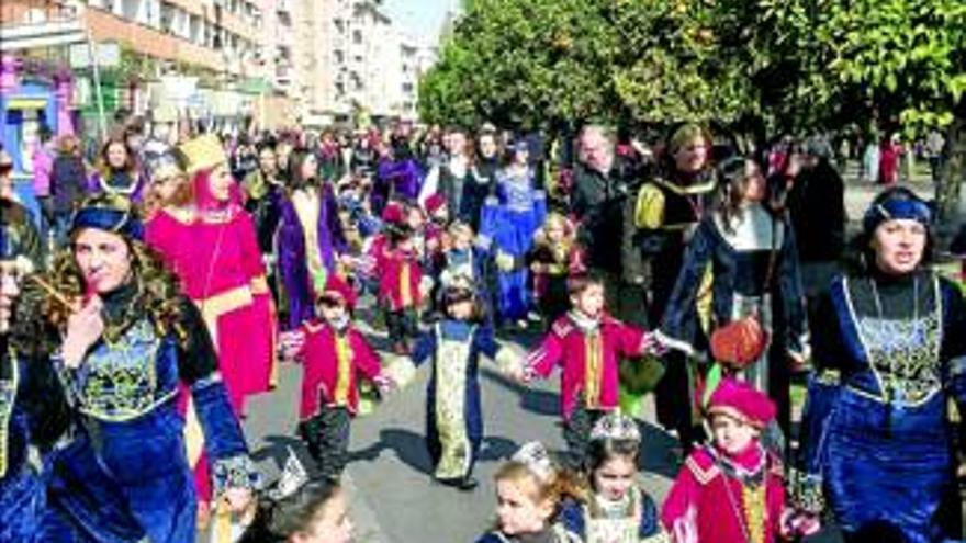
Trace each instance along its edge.
<path fill-rule="evenodd" d="M 299 431 L 322 475 L 338 479 L 348 460 L 349 421 L 359 407 L 358 376 L 387 391 L 379 357 L 352 326 L 356 293 L 332 274 L 318 298 L 322 320 L 310 320 L 282 336 L 288 359 L 300 359 L 302 399 Z"/>

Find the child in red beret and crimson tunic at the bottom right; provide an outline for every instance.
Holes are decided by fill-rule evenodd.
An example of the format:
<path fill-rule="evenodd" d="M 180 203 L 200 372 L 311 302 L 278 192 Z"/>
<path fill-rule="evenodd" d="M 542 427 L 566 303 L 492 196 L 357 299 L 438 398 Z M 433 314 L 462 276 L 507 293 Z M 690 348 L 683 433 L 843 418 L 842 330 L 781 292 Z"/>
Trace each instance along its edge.
<path fill-rule="evenodd" d="M 760 441 L 774 418 L 764 394 L 731 378 L 718 385 L 714 443 L 688 455 L 661 511 L 674 543 L 774 543 L 818 530 L 817 519 L 785 507 L 782 460 Z"/>

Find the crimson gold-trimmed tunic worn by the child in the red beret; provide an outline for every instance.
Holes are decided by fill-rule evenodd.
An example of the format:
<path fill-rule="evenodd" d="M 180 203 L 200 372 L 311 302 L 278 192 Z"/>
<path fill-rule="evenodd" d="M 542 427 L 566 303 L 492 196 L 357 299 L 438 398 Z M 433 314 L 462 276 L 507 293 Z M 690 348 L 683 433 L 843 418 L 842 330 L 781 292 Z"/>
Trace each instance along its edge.
<path fill-rule="evenodd" d="M 675 543 L 734 543 L 780 541 L 785 488 L 782 461 L 759 443 L 735 459 L 704 446 L 685 462 L 661 511 L 661 522 Z M 756 479 L 739 479 L 738 470 Z"/>

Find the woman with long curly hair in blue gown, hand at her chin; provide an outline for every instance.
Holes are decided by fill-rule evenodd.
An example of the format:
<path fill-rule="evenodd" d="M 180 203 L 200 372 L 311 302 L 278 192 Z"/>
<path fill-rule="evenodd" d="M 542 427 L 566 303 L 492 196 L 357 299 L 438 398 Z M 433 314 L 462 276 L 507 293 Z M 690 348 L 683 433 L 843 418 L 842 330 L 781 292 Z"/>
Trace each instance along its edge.
<path fill-rule="evenodd" d="M 257 483 L 201 315 L 142 233 L 128 202 L 87 202 L 43 299 L 26 292 L 24 301 L 40 303 L 18 314 L 35 323 L 38 343 L 53 347 L 49 364 L 72 421 L 49 457 L 42 541 L 194 541 L 181 386 L 192 396 L 218 497 L 242 510 Z"/>

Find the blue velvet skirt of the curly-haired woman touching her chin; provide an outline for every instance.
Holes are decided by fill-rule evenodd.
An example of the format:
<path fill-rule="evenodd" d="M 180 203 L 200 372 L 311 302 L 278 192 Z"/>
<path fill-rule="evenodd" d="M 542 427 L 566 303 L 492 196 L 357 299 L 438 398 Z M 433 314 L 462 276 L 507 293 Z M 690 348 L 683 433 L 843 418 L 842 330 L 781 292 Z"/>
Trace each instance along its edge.
<path fill-rule="evenodd" d="M 166 404 L 134 421 L 93 422 L 56 452 L 47 541 L 193 542 L 198 506 L 182 427 Z"/>

